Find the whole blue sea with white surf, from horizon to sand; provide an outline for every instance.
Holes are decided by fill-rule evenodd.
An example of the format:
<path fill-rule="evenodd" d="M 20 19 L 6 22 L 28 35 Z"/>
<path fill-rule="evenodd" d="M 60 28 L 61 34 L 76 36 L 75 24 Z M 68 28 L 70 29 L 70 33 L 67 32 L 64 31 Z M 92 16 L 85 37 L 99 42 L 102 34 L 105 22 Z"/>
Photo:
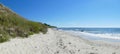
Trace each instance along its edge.
<path fill-rule="evenodd" d="M 120 28 L 58 28 L 89 40 L 120 42 Z"/>

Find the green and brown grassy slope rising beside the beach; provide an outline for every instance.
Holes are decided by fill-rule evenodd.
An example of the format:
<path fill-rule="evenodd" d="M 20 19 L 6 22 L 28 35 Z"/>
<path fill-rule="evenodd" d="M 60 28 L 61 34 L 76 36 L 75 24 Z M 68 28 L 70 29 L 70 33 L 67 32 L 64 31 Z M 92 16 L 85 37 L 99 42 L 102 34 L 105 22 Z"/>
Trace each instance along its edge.
<path fill-rule="evenodd" d="M 28 37 L 34 33 L 47 32 L 46 25 L 24 19 L 0 4 L 0 42 L 14 37 Z"/>

